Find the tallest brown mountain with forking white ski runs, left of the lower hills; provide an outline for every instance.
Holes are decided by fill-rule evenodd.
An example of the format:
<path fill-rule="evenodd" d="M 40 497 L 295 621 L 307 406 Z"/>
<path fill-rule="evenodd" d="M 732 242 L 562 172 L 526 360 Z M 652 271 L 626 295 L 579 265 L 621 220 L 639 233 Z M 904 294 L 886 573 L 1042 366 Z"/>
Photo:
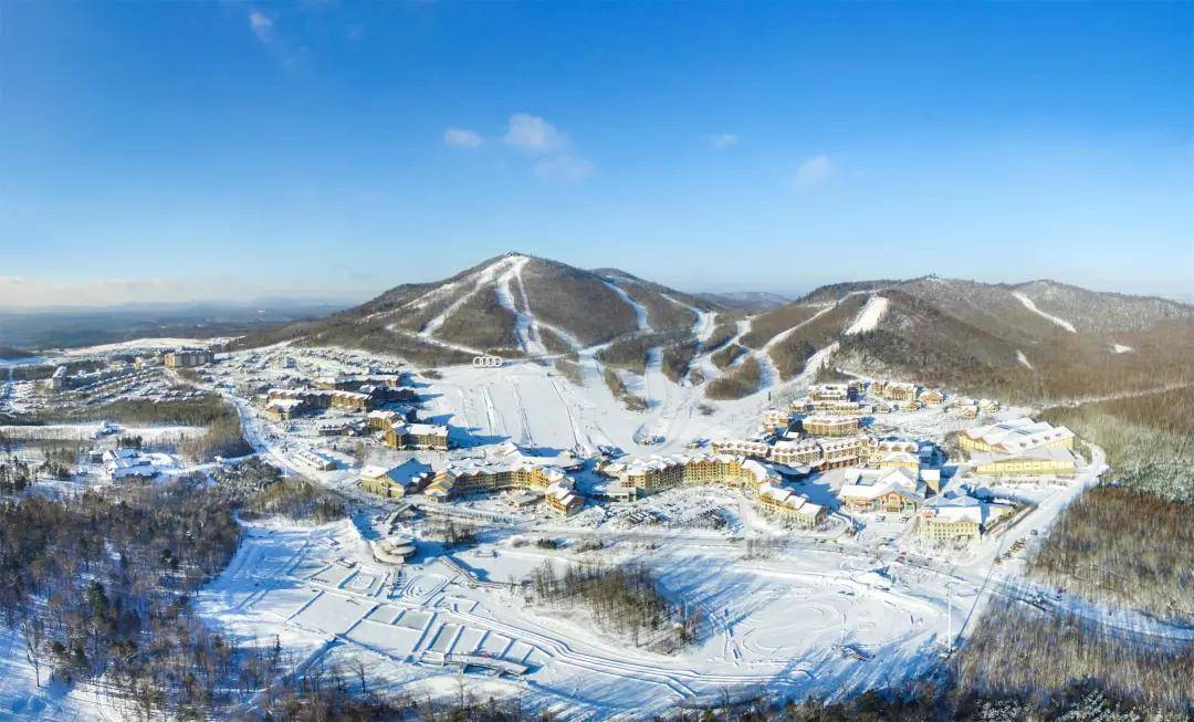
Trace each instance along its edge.
<path fill-rule="evenodd" d="M 433 283 L 395 286 L 320 321 L 246 343 L 295 340 L 455 363 L 567 353 L 648 332 L 691 329 L 706 301 L 614 269 L 586 271 L 506 253 Z"/>

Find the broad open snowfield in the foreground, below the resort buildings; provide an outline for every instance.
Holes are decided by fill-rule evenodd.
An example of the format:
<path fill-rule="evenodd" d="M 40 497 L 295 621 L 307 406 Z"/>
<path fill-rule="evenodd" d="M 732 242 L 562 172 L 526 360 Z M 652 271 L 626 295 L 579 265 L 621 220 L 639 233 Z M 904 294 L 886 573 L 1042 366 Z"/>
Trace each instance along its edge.
<path fill-rule="evenodd" d="M 653 654 L 620 644 L 583 616 L 528 604 L 505 580 L 584 555 L 513 549 L 507 541 L 458 555 L 431 550 L 396 573 L 373 561 L 352 522 L 253 526 L 198 607 L 238 636 L 267 642 L 277 635 L 300 665 L 350 668 L 363 658 L 380 689 L 454 689 L 455 655 L 522 665 L 525 674 L 505 678 L 496 677 L 497 667 L 472 666 L 467 684 L 517 693 L 528 709 L 568 718 L 647 716 L 764 689 L 836 695 L 911 679 L 935 665 L 946 629 L 940 591 L 921 582 L 884 588 L 864 560 L 835 550 L 744 561 L 740 548 L 715 538 L 618 542 L 602 554 L 650 564 L 670 597 L 703 617 L 695 644 Z M 956 623 L 977 590 L 950 584 Z M 869 661 L 843 655 L 843 643 Z"/>

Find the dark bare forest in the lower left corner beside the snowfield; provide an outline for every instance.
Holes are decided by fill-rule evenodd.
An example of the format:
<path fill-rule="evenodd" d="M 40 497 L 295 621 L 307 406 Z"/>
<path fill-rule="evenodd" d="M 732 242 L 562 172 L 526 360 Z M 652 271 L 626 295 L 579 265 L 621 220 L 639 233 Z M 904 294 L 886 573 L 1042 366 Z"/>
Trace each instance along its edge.
<path fill-rule="evenodd" d="M 146 714 L 259 686 L 270 666 L 210 634 L 187 601 L 240 542 L 232 511 L 199 477 L 0 501 L 0 611 L 36 681 L 103 677 Z"/>

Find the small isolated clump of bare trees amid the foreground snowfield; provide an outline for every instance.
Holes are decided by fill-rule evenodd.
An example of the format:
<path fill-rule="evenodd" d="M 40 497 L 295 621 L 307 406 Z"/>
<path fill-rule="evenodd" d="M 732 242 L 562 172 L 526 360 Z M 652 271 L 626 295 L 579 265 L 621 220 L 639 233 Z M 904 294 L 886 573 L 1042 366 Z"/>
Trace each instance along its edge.
<path fill-rule="evenodd" d="M 552 605 L 584 604 L 597 625 L 629 635 L 635 647 L 675 650 L 696 638 L 700 624 L 698 615 L 684 613 L 659 593 L 641 564 L 570 566 L 556 576 L 550 562 L 543 562 L 531 572 L 528 591 Z"/>

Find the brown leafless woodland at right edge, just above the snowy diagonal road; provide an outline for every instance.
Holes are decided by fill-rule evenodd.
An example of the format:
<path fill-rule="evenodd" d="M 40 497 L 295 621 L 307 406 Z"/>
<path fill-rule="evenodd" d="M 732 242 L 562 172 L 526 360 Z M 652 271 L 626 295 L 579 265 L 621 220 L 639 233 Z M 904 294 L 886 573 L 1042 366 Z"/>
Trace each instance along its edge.
<path fill-rule="evenodd" d="M 1095 601 L 1194 624 L 1189 514 L 1189 505 L 1132 489 L 1090 489 L 1061 512 L 1028 572 Z"/>

